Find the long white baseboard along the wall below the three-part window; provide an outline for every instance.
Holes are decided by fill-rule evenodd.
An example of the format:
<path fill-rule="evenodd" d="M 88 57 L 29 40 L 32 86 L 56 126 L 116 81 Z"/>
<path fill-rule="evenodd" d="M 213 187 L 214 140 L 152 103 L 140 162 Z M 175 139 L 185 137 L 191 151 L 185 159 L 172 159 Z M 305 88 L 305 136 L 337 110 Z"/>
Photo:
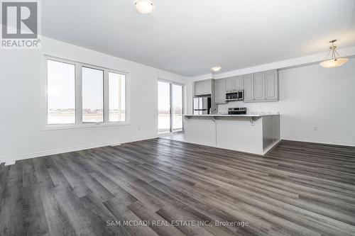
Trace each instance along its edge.
<path fill-rule="evenodd" d="M 60 153 L 65 153 L 65 152 L 75 152 L 75 151 L 87 150 L 87 149 L 97 148 L 97 147 L 117 146 L 117 145 L 121 145 L 122 143 L 126 143 L 126 142 L 136 142 L 136 141 L 148 140 L 148 139 L 152 139 L 152 138 L 155 138 L 155 137 L 138 137 L 138 138 L 134 138 L 134 139 L 124 140 L 124 142 L 96 143 L 96 144 L 82 145 L 82 146 L 77 146 L 77 147 L 67 147 L 67 148 L 62 148 L 62 149 L 58 149 L 58 150 L 48 150 L 48 151 L 42 151 L 42 152 L 19 154 L 19 155 L 13 155 L 13 156 L 1 158 L 0 163 L 5 162 L 5 165 L 9 165 L 11 163 L 14 164 L 16 161 L 19 161 L 21 159 L 45 157 L 45 156 L 49 156 L 49 155 L 53 155 L 53 154 L 60 154 Z"/>

